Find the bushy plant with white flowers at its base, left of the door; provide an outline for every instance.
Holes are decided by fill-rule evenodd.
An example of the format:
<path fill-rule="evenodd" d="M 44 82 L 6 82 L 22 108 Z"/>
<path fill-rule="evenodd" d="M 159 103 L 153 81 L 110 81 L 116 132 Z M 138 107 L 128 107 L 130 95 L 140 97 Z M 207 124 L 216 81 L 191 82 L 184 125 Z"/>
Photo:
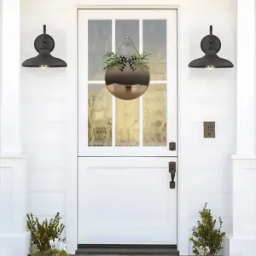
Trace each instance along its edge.
<path fill-rule="evenodd" d="M 32 213 L 26 214 L 27 229 L 31 232 L 31 245 L 35 247 L 30 256 L 69 256 L 66 252 L 65 240 L 61 240 L 62 231 L 65 225 L 61 223 L 59 212 L 55 218 L 49 221 L 44 219 L 40 224 L 37 217 L 34 218 Z"/>

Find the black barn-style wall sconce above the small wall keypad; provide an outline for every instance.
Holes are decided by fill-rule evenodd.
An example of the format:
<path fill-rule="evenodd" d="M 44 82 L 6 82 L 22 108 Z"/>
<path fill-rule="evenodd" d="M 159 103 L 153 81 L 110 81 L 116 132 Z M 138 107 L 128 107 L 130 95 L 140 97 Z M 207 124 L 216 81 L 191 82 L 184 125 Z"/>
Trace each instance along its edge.
<path fill-rule="evenodd" d="M 197 68 L 226 68 L 234 67 L 232 62 L 218 57 L 218 51 L 221 48 L 221 42 L 218 37 L 212 35 L 212 26 L 210 26 L 210 34 L 201 39 L 201 50 L 206 54 L 199 59 L 195 59 L 189 63 L 189 67 Z"/>

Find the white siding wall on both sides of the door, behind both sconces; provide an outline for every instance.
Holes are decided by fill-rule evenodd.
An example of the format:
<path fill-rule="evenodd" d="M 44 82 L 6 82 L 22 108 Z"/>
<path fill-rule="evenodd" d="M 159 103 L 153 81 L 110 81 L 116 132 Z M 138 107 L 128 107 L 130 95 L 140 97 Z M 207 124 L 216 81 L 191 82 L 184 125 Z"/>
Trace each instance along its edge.
<path fill-rule="evenodd" d="M 104 0 L 95 1 L 106 4 Z M 136 4 L 136 1 L 124 3 Z M 236 65 L 236 1 L 181 0 L 179 22 L 179 177 L 183 181 L 183 218 L 189 234 L 206 201 L 231 231 L 231 159 L 236 152 L 236 67 L 230 70 L 195 70 L 190 60 L 202 55 L 201 38 L 213 26 L 222 41 L 220 56 Z M 67 26 L 73 22 L 75 0 L 23 0 L 21 9 L 21 60 L 36 54 L 33 40 L 47 25 L 55 38 L 53 55 L 67 61 Z M 92 4 L 93 1 L 79 1 Z M 96 4 L 94 3 L 94 4 Z M 111 1 L 120 4 L 120 1 Z M 148 1 L 147 1 L 148 3 Z M 145 3 L 145 4 L 147 4 Z M 166 4 L 168 1 L 151 1 Z M 29 176 L 28 211 L 41 218 L 56 212 L 66 216 L 67 69 L 21 70 L 21 121 Z M 76 114 L 76 113 L 73 113 Z M 216 122 L 216 138 L 204 139 L 204 120 Z M 74 169 L 73 172 L 76 172 Z M 186 206 L 184 204 L 187 203 Z M 182 225 L 183 226 L 183 225 Z M 184 228 L 184 227 L 183 227 Z M 186 228 L 186 227 L 185 227 Z M 184 228 L 184 229 L 185 229 Z M 188 230 L 187 230 L 188 231 Z"/>

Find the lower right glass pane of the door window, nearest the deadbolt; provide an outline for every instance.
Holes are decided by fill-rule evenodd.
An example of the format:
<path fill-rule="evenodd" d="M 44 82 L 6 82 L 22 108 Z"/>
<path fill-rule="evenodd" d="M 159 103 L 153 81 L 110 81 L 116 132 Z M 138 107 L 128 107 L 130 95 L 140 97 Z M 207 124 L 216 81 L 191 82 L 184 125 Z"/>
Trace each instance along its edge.
<path fill-rule="evenodd" d="M 143 95 L 143 146 L 166 146 L 166 84 L 150 84 Z"/>

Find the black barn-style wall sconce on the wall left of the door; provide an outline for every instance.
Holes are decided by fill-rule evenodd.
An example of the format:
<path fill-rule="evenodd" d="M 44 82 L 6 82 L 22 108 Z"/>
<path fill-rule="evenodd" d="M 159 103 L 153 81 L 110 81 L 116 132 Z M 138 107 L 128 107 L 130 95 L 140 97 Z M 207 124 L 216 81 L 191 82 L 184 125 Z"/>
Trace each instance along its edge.
<path fill-rule="evenodd" d="M 44 25 L 44 33 L 35 39 L 34 47 L 38 55 L 24 61 L 22 67 L 40 67 L 43 70 L 48 67 L 67 67 L 65 61 L 50 55 L 55 49 L 55 40 L 46 33 L 46 25 Z"/>

